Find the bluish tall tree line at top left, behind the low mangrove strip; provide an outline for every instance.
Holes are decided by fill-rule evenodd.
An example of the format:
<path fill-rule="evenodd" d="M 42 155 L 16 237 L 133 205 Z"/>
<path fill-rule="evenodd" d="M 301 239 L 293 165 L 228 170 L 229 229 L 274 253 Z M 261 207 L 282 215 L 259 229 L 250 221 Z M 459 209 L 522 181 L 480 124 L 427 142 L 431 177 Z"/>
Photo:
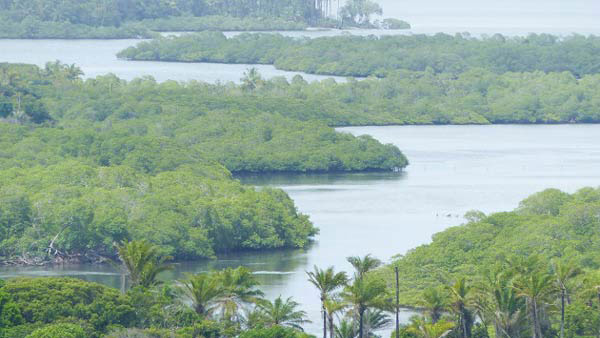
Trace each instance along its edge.
<path fill-rule="evenodd" d="M 27 17 L 40 21 L 68 22 L 89 26 L 120 26 L 130 21 L 172 16 L 222 15 L 232 17 L 277 17 L 316 21 L 331 7 L 329 0 L 49 0 L 0 2 L 0 11 L 15 21 Z"/>

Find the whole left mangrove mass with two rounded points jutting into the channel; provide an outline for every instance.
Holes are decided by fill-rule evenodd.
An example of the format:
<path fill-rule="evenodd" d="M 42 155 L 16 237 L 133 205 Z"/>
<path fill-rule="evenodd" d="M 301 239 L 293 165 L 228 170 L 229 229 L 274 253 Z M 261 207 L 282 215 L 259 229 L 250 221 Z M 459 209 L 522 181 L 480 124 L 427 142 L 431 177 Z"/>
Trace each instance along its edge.
<path fill-rule="evenodd" d="M 262 111 L 260 98 L 246 105 L 247 87 L 79 74 L 58 63 L 0 66 L 4 263 L 103 260 L 115 242 L 138 238 L 176 259 L 304 247 L 316 229 L 289 197 L 244 187 L 227 169 L 407 164 L 394 146 Z"/>

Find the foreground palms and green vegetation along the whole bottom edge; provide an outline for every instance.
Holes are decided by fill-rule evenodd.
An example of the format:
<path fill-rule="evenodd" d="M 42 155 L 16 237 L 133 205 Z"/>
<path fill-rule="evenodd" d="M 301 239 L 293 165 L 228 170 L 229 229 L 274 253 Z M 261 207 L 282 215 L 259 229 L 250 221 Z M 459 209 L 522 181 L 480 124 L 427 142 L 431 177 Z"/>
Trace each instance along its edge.
<path fill-rule="evenodd" d="M 528 225 L 527 234 L 537 238 L 535 243 L 526 240 L 530 242 L 525 245 L 532 253 L 529 256 L 527 249 L 512 241 L 515 252 L 510 248 L 495 257 L 490 257 L 490 252 L 474 255 L 479 260 L 466 258 L 470 266 L 460 272 L 447 271 L 457 260 L 445 266 L 417 262 L 421 264 L 417 267 L 419 278 L 435 282 L 424 289 L 428 283 L 411 285 L 411 299 L 422 312 L 413 316 L 410 323 L 399 326 L 398 336 L 394 332 L 392 337 L 596 337 L 600 334 L 600 270 L 597 254 L 593 254 L 597 250 L 590 250 L 590 246 L 597 246 L 595 237 L 585 241 L 583 236 L 565 233 L 569 237 L 565 244 L 544 238 L 543 233 L 551 232 L 557 237 L 560 231 L 556 231 L 557 222 L 551 218 L 558 217 L 565 210 L 564 205 L 583 199 L 587 203 L 595 201 L 597 207 L 599 195 L 598 190 L 591 188 L 575 195 L 549 190 L 524 201 L 518 212 L 543 216 L 544 223 L 537 228 L 535 223 Z M 591 222 L 598 221 L 597 208 L 581 208 L 594 218 Z M 506 214 L 486 218 L 472 212 L 469 217 L 473 222 L 484 222 L 491 217 L 510 218 Z M 466 243 L 472 251 L 486 251 L 489 239 L 499 237 L 490 226 L 498 224 L 481 230 L 482 234 L 491 233 L 485 239 L 468 237 Z M 546 229 L 552 226 L 555 229 Z M 597 226 L 584 228 L 589 232 Z M 517 237 L 515 229 L 505 230 Z M 434 243 L 438 241 L 436 238 Z M 547 249 L 539 245 L 545 241 L 560 244 Z M 582 242 L 584 247 L 578 245 Z M 456 247 L 461 243 L 462 238 L 453 238 L 448 245 Z M 491 243 L 492 250 L 498 250 L 498 243 L 500 240 Z M 257 281 L 246 268 L 188 275 L 180 281 L 163 283 L 158 277 L 171 266 L 159 247 L 133 241 L 123 243 L 118 250 L 122 291 L 129 285 L 124 294 L 68 278 L 18 278 L 5 284 L 0 281 L 0 337 L 310 337 L 301 332 L 307 320 L 306 313 L 298 309 L 300 304 L 291 298 L 263 299 Z M 446 250 L 441 254 L 447 253 L 456 252 Z M 552 255 L 555 257 L 550 259 Z M 438 257 L 436 252 L 425 259 Z M 396 263 L 402 287 L 410 280 L 406 273 L 411 271 L 406 270 L 403 259 Z M 333 267 L 315 266 L 307 271 L 307 285 L 312 285 L 321 299 L 323 337 L 381 337 L 377 331 L 391 328 L 390 314 L 399 309 L 395 288 L 386 285 L 381 273 L 385 269 L 378 269 L 378 259 L 367 255 L 349 257 L 348 262 L 354 267 L 352 278 Z M 416 295 L 420 289 L 422 292 Z"/>

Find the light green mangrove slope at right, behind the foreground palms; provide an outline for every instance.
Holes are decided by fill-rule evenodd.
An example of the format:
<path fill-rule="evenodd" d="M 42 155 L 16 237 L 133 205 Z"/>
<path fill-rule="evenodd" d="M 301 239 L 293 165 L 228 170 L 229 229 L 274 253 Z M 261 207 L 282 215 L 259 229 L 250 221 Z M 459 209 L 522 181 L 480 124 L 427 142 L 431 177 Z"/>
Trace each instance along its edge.
<path fill-rule="evenodd" d="M 513 212 L 492 214 L 435 234 L 430 244 L 409 251 L 393 263 L 403 276 L 402 301 L 415 304 L 420 290 L 442 285 L 443 280 L 473 275 L 474 271 L 493 267 L 498 261 L 514 260 L 515 255 L 539 255 L 547 271 L 549 262 L 561 257 L 568 258 L 578 268 L 600 268 L 599 219 L 592 216 L 600 211 L 599 201 L 600 189 L 584 188 L 574 194 L 550 189 L 524 200 Z M 387 276 L 391 282 L 391 269 Z M 497 284 L 499 280 L 512 279 L 498 276 L 489 280 Z M 535 289 L 541 279 L 548 278 L 523 280 L 521 285 Z M 539 290 L 540 294 L 547 291 Z M 503 299 L 514 296 L 505 295 Z"/>

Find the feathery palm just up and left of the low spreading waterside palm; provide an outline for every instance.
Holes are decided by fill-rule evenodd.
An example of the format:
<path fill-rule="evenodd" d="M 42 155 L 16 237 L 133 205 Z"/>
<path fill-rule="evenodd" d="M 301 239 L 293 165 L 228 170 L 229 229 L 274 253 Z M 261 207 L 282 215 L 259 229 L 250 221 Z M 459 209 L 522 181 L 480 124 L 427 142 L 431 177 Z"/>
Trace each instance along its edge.
<path fill-rule="evenodd" d="M 256 303 L 264 295 L 257 289 L 259 282 L 245 267 L 227 268 L 217 272 L 214 278 L 219 279 L 224 288 L 223 297 L 219 302 L 222 317 L 227 321 L 239 319 L 235 317 L 243 304 Z"/>

